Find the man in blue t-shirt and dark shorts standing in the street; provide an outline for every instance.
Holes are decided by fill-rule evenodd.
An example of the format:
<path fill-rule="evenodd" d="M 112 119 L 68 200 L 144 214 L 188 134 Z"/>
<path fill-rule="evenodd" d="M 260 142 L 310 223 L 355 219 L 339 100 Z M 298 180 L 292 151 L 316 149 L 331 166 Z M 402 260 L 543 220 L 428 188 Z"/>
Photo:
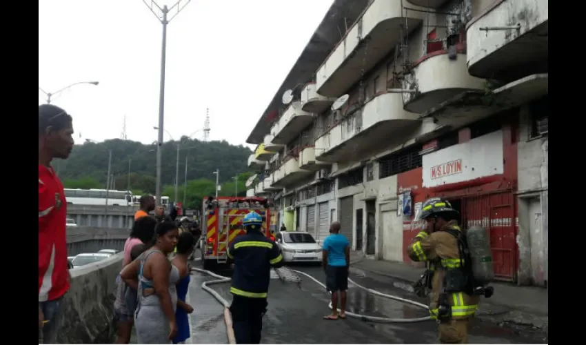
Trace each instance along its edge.
<path fill-rule="evenodd" d="M 334 221 L 330 225 L 330 236 L 323 241 L 323 269 L 325 286 L 332 294 L 332 314 L 323 317 L 327 320 L 346 318 L 346 290 L 348 289 L 348 270 L 350 268 L 350 242 L 340 233 L 341 224 Z M 341 308 L 338 314 L 338 291 Z"/>

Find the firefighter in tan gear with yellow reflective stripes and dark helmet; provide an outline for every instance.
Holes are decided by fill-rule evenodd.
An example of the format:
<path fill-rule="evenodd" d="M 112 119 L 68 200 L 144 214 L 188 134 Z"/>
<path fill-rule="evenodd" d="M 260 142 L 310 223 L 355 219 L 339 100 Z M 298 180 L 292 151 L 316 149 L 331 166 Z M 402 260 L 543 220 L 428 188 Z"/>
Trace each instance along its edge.
<path fill-rule="evenodd" d="M 427 199 L 415 220 L 427 226 L 407 247 L 407 255 L 427 264 L 427 282 L 431 289 L 430 315 L 438 321 L 441 344 L 467 344 L 469 320 L 478 308 L 476 295 L 469 295 L 463 259 L 458 246 L 459 213 L 449 201 L 437 197 Z"/>

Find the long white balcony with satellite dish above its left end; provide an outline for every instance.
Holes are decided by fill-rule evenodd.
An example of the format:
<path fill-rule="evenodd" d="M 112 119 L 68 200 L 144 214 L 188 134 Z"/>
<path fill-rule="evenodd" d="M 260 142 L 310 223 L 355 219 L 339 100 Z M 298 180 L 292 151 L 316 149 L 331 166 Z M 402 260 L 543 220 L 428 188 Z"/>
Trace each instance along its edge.
<path fill-rule="evenodd" d="M 356 159 L 414 130 L 418 115 L 403 110 L 401 93 L 377 95 L 315 142 L 315 157 L 330 163 Z"/>

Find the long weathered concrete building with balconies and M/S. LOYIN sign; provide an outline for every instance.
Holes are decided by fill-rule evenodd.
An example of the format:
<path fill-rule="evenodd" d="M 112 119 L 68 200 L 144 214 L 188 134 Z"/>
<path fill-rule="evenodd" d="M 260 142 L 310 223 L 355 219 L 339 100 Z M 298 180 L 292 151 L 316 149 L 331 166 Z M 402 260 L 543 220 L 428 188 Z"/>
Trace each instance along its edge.
<path fill-rule="evenodd" d="M 247 139 L 248 193 L 398 262 L 446 197 L 499 279 L 547 284 L 547 22 L 547 0 L 334 1 Z"/>

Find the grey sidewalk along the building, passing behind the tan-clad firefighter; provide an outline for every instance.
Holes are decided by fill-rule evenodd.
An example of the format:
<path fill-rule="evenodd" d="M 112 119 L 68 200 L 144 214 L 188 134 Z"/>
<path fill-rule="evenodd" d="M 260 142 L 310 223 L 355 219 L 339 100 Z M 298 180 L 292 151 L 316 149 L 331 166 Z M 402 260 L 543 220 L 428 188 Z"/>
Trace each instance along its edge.
<path fill-rule="evenodd" d="M 352 267 L 377 275 L 383 275 L 408 284 L 415 282 L 423 268 L 414 268 L 399 262 L 363 259 L 360 253 L 352 252 Z M 481 297 L 478 318 L 490 322 L 512 323 L 541 328 L 547 333 L 548 294 L 547 289 L 534 286 L 516 286 L 505 282 L 493 282 L 494 295 Z"/>

